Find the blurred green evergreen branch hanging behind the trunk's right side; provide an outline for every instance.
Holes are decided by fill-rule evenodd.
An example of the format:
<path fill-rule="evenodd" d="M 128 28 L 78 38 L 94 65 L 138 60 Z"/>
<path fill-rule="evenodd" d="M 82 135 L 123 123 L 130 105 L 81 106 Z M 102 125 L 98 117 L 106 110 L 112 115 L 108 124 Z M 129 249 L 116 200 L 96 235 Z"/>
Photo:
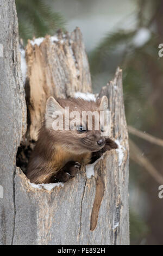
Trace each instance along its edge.
<path fill-rule="evenodd" d="M 117 66 L 123 70 L 124 103 L 128 124 L 139 129 L 155 122 L 155 109 L 151 106 L 152 93 L 151 68 L 160 69 L 158 62 L 158 42 L 151 33 L 151 39 L 141 47 L 133 44 L 135 31 L 118 31 L 109 34 L 90 53 L 90 69 L 95 86 L 101 74 L 113 77 Z M 163 66 L 161 67 L 163 69 Z M 104 81 L 103 85 L 106 81 Z M 100 88 L 99 88 L 100 90 Z M 150 120 L 147 117 L 151 114 Z M 149 123 L 150 121 L 150 123 Z"/>

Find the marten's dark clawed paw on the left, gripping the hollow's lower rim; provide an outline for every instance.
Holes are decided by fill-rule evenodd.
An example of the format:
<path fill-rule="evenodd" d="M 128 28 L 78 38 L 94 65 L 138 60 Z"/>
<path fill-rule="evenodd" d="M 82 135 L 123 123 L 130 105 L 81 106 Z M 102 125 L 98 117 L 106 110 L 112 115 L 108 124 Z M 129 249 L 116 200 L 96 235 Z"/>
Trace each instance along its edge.
<path fill-rule="evenodd" d="M 81 165 L 78 162 L 67 162 L 65 166 L 55 175 L 54 182 L 66 182 L 67 180 L 72 179 L 80 168 Z"/>

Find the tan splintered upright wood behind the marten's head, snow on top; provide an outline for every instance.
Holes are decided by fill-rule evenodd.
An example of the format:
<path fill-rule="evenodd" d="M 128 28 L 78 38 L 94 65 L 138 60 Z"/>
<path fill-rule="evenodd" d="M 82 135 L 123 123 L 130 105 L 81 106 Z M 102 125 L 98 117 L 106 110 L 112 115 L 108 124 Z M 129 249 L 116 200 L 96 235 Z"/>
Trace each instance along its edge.
<path fill-rule="evenodd" d="M 28 41 L 27 87 L 30 113 L 30 138 L 36 141 L 49 96 L 73 96 L 91 92 L 89 64 L 82 34 L 77 28 L 71 34 L 58 32 L 43 40 Z"/>

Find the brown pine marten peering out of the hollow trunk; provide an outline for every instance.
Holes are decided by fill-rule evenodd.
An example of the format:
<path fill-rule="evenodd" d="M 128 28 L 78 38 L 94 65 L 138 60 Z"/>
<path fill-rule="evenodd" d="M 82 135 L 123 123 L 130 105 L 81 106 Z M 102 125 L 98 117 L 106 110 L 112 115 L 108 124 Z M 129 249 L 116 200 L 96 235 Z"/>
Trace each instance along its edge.
<path fill-rule="evenodd" d="M 87 101 L 82 98 L 55 100 L 52 96 L 49 97 L 45 121 L 27 167 L 26 174 L 30 182 L 66 182 L 75 176 L 81 164 L 92 163 L 106 150 L 117 148 L 114 141 L 102 136 L 102 124 L 99 124 L 98 130 L 87 130 L 87 123 L 83 124 L 78 120 L 79 125 L 75 129 L 54 130 L 53 113 L 64 113 L 65 107 L 69 107 L 70 112 L 78 111 L 81 115 L 82 111 L 106 111 L 108 98 L 103 96 L 96 101 Z"/>

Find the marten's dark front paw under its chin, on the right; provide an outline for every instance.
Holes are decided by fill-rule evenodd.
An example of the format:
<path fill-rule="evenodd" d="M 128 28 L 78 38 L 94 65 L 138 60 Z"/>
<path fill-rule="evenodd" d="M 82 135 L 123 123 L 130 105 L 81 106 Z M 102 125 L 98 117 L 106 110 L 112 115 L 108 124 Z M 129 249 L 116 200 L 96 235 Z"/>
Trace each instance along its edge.
<path fill-rule="evenodd" d="M 110 151 L 111 149 L 117 149 L 118 145 L 117 143 L 115 143 L 114 141 L 112 141 L 112 139 L 106 138 L 105 139 L 105 146 L 97 151 L 97 152 L 93 152 L 92 153 L 92 157 L 91 157 L 91 163 L 95 162 L 97 159 L 99 159 L 99 157 L 102 156 L 102 154 L 104 152 L 106 152 L 107 150 Z"/>

